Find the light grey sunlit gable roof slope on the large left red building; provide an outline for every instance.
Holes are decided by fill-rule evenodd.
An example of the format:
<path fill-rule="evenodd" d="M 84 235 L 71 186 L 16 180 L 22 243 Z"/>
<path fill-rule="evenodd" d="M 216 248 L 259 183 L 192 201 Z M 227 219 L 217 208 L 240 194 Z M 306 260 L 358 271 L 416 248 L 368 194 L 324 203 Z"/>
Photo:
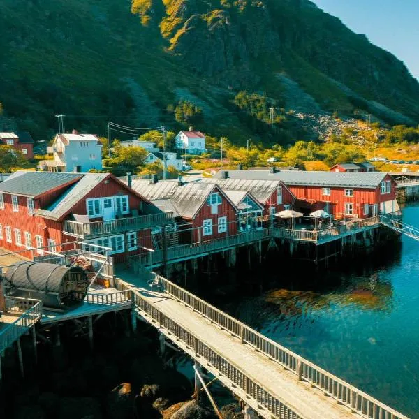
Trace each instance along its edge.
<path fill-rule="evenodd" d="M 108 173 L 84 173 L 82 179 L 72 185 L 47 210 L 37 210 L 36 214 L 51 219 L 60 219 L 108 175 Z"/>

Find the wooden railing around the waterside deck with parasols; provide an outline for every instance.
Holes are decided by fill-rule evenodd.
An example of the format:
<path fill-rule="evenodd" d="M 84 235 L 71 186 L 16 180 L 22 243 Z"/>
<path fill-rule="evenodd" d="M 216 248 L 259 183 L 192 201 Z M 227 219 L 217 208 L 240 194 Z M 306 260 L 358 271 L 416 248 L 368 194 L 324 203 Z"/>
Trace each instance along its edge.
<path fill-rule="evenodd" d="M 302 242 L 316 242 L 321 243 L 330 238 L 344 237 L 350 233 L 355 233 L 356 230 L 363 230 L 367 227 L 379 226 L 381 223 L 380 216 L 373 216 L 367 219 L 357 221 L 349 221 L 348 223 L 325 228 L 321 230 L 290 230 L 288 228 L 273 228 L 274 237 L 280 239 L 293 239 Z"/>

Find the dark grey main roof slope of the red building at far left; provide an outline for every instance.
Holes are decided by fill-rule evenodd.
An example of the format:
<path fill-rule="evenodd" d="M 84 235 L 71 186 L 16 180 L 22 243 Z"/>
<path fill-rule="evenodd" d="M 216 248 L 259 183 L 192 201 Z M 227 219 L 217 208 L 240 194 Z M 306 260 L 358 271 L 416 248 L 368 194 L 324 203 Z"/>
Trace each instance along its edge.
<path fill-rule="evenodd" d="M 19 170 L 0 184 L 0 192 L 38 196 L 68 182 L 81 179 L 83 176 L 83 173 L 25 172 Z"/>

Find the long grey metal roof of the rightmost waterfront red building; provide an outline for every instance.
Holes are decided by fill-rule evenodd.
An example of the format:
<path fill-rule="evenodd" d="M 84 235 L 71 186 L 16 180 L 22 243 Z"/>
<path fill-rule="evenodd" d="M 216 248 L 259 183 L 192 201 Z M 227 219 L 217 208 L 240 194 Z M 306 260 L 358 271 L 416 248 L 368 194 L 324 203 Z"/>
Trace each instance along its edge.
<path fill-rule="evenodd" d="M 286 186 L 330 186 L 366 189 L 375 189 L 388 175 L 383 172 L 303 172 L 284 170 L 271 173 L 262 170 L 220 170 L 214 177 L 221 179 L 225 171 L 228 172 L 230 179 L 281 180 Z"/>

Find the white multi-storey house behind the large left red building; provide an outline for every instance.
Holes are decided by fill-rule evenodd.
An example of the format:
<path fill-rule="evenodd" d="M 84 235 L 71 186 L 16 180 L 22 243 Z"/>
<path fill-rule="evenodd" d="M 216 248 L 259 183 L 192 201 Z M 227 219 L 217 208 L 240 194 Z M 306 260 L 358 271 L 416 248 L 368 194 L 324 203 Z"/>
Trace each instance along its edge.
<path fill-rule="evenodd" d="M 102 170 L 102 145 L 96 135 L 57 134 L 47 153 L 53 160 L 39 162 L 39 168 L 47 172 L 88 172 L 90 169 Z"/>

